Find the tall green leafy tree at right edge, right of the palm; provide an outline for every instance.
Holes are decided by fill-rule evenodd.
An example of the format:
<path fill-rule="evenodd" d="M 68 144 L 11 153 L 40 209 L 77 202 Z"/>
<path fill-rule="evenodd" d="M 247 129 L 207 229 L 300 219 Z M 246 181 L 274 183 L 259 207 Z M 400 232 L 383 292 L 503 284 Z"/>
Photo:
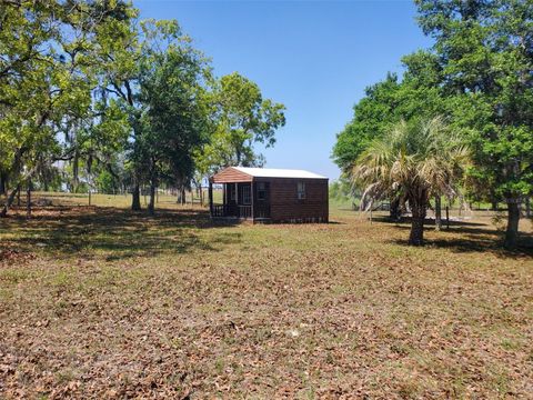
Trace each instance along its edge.
<path fill-rule="evenodd" d="M 533 192 L 533 3 L 418 0 L 435 40 L 454 123 L 474 151 L 471 178 L 507 203 L 505 247 L 516 247 L 520 203 Z M 492 200 L 492 199 L 489 199 Z"/>

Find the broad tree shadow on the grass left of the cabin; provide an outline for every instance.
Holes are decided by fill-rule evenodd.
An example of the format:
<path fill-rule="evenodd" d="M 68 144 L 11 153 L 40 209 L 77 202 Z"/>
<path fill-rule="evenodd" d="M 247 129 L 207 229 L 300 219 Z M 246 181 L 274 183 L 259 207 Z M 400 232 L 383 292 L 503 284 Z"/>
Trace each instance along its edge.
<path fill-rule="evenodd" d="M 0 244 L 11 250 L 36 249 L 54 257 L 77 254 L 90 258 L 103 254 L 113 261 L 191 250 L 217 251 L 238 243 L 241 233 L 205 233 L 205 228 L 229 227 L 211 222 L 205 211 L 160 210 L 154 217 L 114 208 L 51 207 L 40 208 L 29 221 L 12 217 L 0 221 L 10 233 Z M 201 231 L 202 230 L 202 231 Z"/>

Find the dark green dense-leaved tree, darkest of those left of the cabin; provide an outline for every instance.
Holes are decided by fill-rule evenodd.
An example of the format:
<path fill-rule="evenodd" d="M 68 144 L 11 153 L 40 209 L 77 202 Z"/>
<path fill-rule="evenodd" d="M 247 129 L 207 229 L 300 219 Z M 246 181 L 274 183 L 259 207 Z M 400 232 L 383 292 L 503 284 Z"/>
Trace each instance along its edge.
<path fill-rule="evenodd" d="M 178 24 L 164 29 L 180 37 Z M 175 184 L 179 179 L 192 179 L 193 152 L 207 140 L 203 98 L 209 69 L 190 44 L 172 41 L 163 52 L 143 59 L 140 77 L 139 101 L 145 111 L 138 140 L 150 182 L 149 212 L 153 213 L 160 181 Z"/>

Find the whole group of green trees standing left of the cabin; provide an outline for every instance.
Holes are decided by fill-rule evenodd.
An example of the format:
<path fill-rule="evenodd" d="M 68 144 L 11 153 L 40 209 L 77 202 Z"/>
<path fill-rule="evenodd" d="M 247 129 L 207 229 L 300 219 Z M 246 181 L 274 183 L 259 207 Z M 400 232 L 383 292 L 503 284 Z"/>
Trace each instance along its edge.
<path fill-rule="evenodd" d="M 264 162 L 284 106 L 233 72 L 212 73 L 174 20 L 120 0 L 0 1 L 0 194 L 129 191 Z M 29 197 L 28 197 L 29 198 Z"/>

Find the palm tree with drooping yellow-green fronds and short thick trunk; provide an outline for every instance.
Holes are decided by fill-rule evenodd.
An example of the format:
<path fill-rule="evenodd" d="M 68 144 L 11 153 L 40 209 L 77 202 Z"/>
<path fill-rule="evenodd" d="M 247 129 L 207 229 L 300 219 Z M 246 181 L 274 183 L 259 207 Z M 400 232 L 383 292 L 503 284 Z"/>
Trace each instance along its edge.
<path fill-rule="evenodd" d="M 364 187 L 362 204 L 396 196 L 412 212 L 409 243 L 423 244 L 424 220 L 432 196 L 456 196 L 469 151 L 440 117 L 399 122 L 374 140 L 358 159 L 352 179 Z"/>

